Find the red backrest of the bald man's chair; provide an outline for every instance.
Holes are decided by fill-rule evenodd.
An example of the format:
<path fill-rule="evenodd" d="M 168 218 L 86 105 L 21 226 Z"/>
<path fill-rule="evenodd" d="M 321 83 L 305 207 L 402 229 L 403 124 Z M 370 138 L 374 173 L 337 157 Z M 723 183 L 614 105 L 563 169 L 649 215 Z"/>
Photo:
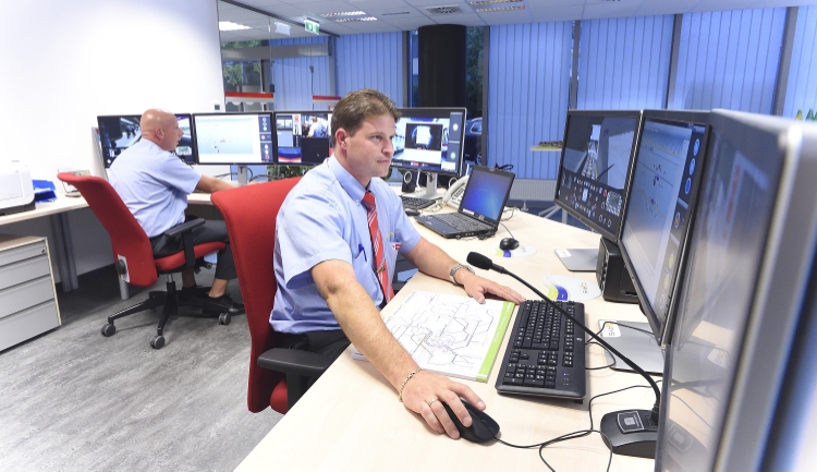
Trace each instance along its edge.
<path fill-rule="evenodd" d="M 129 283 L 139 287 L 156 283 L 158 274 L 150 240 L 113 186 L 107 180 L 94 176 L 60 172 L 57 178 L 74 185 L 88 202 L 94 215 L 111 238 L 114 261 L 118 256 L 126 259 Z"/>

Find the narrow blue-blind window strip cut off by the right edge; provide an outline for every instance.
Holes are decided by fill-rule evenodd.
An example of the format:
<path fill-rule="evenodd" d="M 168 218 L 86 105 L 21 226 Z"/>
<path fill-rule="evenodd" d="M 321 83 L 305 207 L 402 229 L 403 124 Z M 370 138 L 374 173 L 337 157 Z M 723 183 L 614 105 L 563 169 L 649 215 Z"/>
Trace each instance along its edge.
<path fill-rule="evenodd" d="M 803 118 L 808 110 L 817 113 L 817 7 L 801 7 L 794 28 L 783 117 L 794 118 L 797 110 Z"/>

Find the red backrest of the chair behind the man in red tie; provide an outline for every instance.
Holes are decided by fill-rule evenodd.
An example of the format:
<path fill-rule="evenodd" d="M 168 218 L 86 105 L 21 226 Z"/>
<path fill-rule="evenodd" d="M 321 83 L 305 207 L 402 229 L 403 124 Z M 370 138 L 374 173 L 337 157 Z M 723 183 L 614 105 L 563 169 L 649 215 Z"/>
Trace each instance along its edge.
<path fill-rule="evenodd" d="M 272 268 L 276 219 L 286 194 L 301 178 L 245 185 L 212 194 L 212 203 L 221 211 L 239 275 L 249 325 L 249 383 L 247 408 L 259 412 L 270 406 L 273 387 L 283 375 L 259 367 L 258 356 L 276 347 L 269 314 L 278 286 Z"/>

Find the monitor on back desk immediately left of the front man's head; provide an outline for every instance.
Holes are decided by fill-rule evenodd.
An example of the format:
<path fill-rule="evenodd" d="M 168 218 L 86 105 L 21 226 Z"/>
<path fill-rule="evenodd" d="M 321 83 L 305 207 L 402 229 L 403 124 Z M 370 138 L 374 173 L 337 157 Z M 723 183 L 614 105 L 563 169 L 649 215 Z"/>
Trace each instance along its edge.
<path fill-rule="evenodd" d="M 331 156 L 332 113 L 276 111 L 277 164 L 317 166 Z"/>

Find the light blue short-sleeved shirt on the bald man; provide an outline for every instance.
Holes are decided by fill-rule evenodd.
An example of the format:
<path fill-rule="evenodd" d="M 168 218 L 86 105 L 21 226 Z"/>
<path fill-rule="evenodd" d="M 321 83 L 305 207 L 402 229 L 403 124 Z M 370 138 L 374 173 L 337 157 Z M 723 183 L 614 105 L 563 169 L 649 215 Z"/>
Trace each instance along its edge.
<path fill-rule="evenodd" d="M 202 174 L 156 143 L 141 140 L 108 169 L 108 180 L 148 238 L 184 222 L 187 194 Z"/>

